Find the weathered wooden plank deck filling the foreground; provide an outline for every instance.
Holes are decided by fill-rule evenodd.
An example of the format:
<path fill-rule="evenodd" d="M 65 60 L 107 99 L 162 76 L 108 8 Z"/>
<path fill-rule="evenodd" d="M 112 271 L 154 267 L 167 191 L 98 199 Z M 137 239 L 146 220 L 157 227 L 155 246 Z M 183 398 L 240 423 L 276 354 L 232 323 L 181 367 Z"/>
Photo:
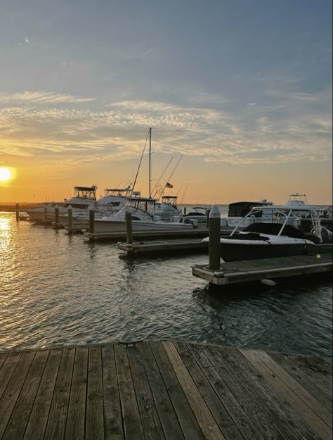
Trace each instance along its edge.
<path fill-rule="evenodd" d="M 164 342 L 0 352 L 1 440 L 331 440 L 332 363 Z"/>

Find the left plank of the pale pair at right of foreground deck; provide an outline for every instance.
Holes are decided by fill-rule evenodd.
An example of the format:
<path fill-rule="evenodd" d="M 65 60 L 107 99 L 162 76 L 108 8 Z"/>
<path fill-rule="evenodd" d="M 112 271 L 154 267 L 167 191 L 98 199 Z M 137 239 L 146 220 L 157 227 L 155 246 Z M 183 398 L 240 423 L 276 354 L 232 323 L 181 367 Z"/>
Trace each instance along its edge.
<path fill-rule="evenodd" d="M 256 356 L 256 353 L 247 350 L 240 350 L 240 352 L 256 367 L 261 375 L 273 385 L 278 393 L 292 405 L 301 417 L 303 417 L 303 420 L 306 420 L 308 425 L 310 425 L 323 440 L 332 440 L 332 429 L 329 429 L 328 425 L 326 425 L 311 408 L 305 405 L 301 398 L 299 398 L 292 389 L 289 389 L 285 382 L 276 376 L 272 370 Z"/>

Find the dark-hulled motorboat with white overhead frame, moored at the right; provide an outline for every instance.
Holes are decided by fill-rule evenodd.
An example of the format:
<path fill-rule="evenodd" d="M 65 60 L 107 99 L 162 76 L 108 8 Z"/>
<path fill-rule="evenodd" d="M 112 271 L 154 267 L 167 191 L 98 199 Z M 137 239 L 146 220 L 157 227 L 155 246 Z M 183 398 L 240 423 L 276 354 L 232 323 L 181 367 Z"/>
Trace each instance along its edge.
<path fill-rule="evenodd" d="M 252 222 L 240 230 L 248 217 L 270 210 L 274 222 Z M 311 219 L 310 232 L 300 229 L 303 216 Z M 208 241 L 208 238 L 204 239 Z M 224 261 L 254 260 L 332 252 L 332 232 L 320 225 L 318 208 L 303 204 L 254 206 L 226 237 L 220 238 Z"/>

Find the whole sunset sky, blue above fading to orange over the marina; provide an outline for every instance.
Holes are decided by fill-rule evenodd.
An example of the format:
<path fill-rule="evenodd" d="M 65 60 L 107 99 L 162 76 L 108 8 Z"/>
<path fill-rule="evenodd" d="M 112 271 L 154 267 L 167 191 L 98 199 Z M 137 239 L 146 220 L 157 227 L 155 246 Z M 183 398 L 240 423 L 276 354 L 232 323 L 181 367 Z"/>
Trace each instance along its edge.
<path fill-rule="evenodd" d="M 151 127 L 152 187 L 179 202 L 332 204 L 331 19 L 330 0 L 4 1 L 0 202 L 133 184 Z M 148 174 L 146 146 L 143 196 Z"/>

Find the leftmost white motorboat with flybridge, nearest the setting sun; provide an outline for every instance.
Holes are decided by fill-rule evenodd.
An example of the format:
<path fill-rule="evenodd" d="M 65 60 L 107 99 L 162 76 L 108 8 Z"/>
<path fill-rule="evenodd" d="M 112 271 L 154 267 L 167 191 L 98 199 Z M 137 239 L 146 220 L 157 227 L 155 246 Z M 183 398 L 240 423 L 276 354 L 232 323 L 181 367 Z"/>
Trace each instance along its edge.
<path fill-rule="evenodd" d="M 48 201 L 42 203 L 38 208 L 28 209 L 25 212 L 29 215 L 30 220 L 34 222 L 42 222 L 44 220 L 55 220 L 55 208 L 59 208 L 59 215 L 67 215 L 68 207 L 74 209 L 85 209 L 96 201 L 96 185 L 91 187 L 74 187 L 74 195 L 70 199 L 63 201 Z"/>

